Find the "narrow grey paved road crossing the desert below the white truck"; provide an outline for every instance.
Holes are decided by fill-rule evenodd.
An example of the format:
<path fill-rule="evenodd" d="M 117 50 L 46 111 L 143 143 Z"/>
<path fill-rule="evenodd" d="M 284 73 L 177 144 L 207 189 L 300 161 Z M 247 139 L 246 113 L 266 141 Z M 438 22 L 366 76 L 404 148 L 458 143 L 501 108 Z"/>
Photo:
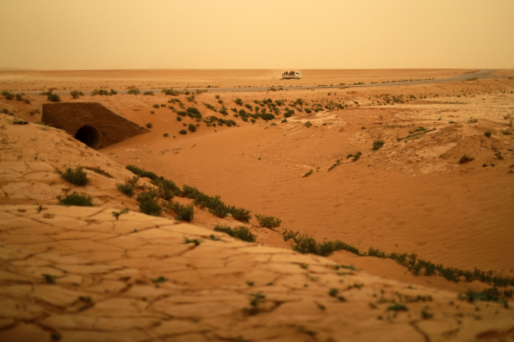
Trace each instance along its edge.
<path fill-rule="evenodd" d="M 506 78 L 506 76 L 499 75 L 491 75 L 491 73 L 497 71 L 497 69 L 484 69 L 475 73 L 465 73 L 462 75 L 457 75 L 455 77 L 447 78 L 447 79 L 435 79 L 435 80 L 419 80 L 419 81 L 406 81 L 406 82 L 390 82 L 390 83 L 374 83 L 374 84 L 355 84 L 355 85 L 344 85 L 344 86 L 296 86 L 296 87 L 280 87 L 284 90 L 289 89 L 322 89 L 322 88 L 353 88 L 353 87 L 391 87 L 398 85 L 409 85 L 409 84 L 427 84 L 427 83 L 442 83 L 442 82 L 452 82 L 452 81 L 463 81 L 471 78 L 477 79 L 501 79 Z M 286 80 L 286 82 L 301 82 L 301 80 Z M 189 88 L 190 91 L 195 91 L 196 88 Z M 266 91 L 269 90 L 269 87 L 248 87 L 248 88 L 199 88 L 206 89 L 209 92 L 227 92 L 227 91 Z M 160 89 L 140 89 L 141 92 L 144 91 L 154 91 L 160 92 Z M 126 90 L 118 90 L 119 94 L 125 94 Z M 39 91 L 24 91 L 26 94 L 38 94 Z M 55 91 L 54 93 L 59 95 L 67 95 L 69 91 Z"/>

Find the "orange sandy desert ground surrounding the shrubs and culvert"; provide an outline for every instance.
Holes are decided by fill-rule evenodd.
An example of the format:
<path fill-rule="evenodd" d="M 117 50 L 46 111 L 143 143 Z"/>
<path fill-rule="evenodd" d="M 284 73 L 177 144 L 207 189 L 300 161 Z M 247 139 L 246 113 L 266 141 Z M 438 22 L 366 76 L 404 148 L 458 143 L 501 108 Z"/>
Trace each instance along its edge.
<path fill-rule="evenodd" d="M 207 92 L 194 99 L 188 94 L 189 100 L 160 92 L 437 79 L 473 70 L 304 70 L 299 81 L 278 80 L 281 71 L 0 71 L 2 90 L 78 89 L 85 96 L 61 100 L 100 102 L 141 126 L 152 123 L 149 133 L 95 151 L 38 124 L 46 96 L 23 95 L 30 103 L 0 99 L 0 110 L 6 109 L 0 120 L 3 338 L 514 340 L 514 287 L 494 288 L 497 302 L 471 303 L 458 295 L 491 289 L 490 281 L 415 275 L 394 260 L 362 256 L 370 248 L 415 253 L 444 267 L 514 278 L 514 71 L 496 72 L 510 79 L 358 90 Z M 133 85 L 155 94 L 89 95 Z M 266 99 L 283 104 L 272 107 Z M 177 121 L 180 105 L 198 108 L 204 119 L 236 124 L 214 126 L 188 116 Z M 219 113 L 222 106 L 227 116 Z M 279 113 L 273 120 L 234 117 L 273 108 Z M 284 120 L 287 109 L 294 113 Z M 190 123 L 198 124 L 195 132 L 178 134 Z M 384 145 L 372 150 L 377 140 Z M 357 152 L 360 158 L 347 157 Z M 462 163 L 463 156 L 471 160 Z M 130 164 L 282 223 L 271 230 L 255 217 L 241 223 L 198 206 L 190 224 L 173 220 L 173 213 L 137 213 L 136 196 L 116 188 L 133 176 L 125 169 Z M 62 180 L 57 171 L 67 166 L 89 167 L 90 184 Z M 99 168 L 112 178 L 92 171 Z M 151 183 L 141 178 L 138 185 Z M 98 206 L 55 206 L 57 196 L 72 192 Z M 117 221 L 111 213 L 125 207 L 130 213 Z M 256 243 L 222 233 L 212 239 L 218 224 L 244 225 Z M 343 241 L 361 256 L 293 252 L 283 238 L 291 231 Z M 201 243 L 183 243 L 184 236 Z M 55 283 L 47 284 L 43 273 Z M 152 281 L 160 276 L 166 281 Z M 347 301 L 328 295 L 331 289 Z M 257 293 L 265 299 L 253 306 L 249 300 Z M 409 311 L 387 311 L 394 304 Z"/>

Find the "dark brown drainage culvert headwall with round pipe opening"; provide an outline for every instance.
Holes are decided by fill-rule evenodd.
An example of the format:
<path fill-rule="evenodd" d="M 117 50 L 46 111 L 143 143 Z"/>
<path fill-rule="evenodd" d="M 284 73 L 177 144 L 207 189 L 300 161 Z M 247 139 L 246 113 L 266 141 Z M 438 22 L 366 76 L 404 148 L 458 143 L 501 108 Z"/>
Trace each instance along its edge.
<path fill-rule="evenodd" d="M 149 132 L 97 102 L 45 103 L 41 121 L 94 149 Z"/>

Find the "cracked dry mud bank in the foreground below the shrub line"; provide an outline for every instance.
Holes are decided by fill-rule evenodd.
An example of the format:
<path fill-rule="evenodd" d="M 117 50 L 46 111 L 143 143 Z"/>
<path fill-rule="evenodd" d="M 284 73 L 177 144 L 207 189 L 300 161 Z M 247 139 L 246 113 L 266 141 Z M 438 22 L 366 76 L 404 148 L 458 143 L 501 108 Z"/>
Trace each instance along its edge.
<path fill-rule="evenodd" d="M 474 340 L 512 326 L 512 309 L 499 304 L 112 212 L 0 207 L 2 341 Z M 395 303 L 408 311 L 387 311 Z"/>

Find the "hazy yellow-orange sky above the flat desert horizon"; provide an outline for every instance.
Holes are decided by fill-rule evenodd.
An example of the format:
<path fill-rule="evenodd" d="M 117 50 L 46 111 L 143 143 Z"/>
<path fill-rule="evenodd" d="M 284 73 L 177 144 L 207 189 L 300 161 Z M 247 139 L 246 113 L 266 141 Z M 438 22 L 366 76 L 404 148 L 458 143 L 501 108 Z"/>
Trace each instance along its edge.
<path fill-rule="evenodd" d="M 0 67 L 514 68 L 514 1 L 0 0 Z"/>

